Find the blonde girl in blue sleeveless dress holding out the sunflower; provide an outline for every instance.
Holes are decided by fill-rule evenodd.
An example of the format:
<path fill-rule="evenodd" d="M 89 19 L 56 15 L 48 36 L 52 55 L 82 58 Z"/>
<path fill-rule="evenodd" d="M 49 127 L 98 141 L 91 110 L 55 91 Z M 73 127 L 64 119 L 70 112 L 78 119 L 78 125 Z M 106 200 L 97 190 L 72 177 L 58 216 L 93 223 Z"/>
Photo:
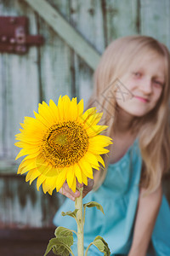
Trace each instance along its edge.
<path fill-rule="evenodd" d="M 161 190 L 161 177 L 170 166 L 169 93 L 170 55 L 164 44 L 129 36 L 107 47 L 94 73 L 89 106 L 103 111 L 113 144 L 109 158 L 104 156 L 107 171 L 94 172 L 94 183 L 89 180 L 84 189 L 84 202 L 97 201 L 105 212 L 87 210 L 85 247 L 102 236 L 111 255 L 170 255 L 170 209 Z M 79 196 L 66 183 L 60 193 L 72 201 Z M 73 230 L 75 220 L 60 215 L 74 208 L 70 199 L 54 224 Z M 94 246 L 88 252 L 103 255 Z"/>

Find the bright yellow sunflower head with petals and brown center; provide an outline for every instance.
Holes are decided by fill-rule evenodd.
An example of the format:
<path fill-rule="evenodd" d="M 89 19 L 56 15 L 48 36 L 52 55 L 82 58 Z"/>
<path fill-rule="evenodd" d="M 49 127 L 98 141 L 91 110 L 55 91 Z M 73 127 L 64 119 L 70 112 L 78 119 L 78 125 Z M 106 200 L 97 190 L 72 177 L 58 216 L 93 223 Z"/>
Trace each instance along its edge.
<path fill-rule="evenodd" d="M 88 184 L 93 168 L 99 163 L 105 167 L 100 154 L 108 153 L 111 138 L 101 135 L 106 125 L 97 125 L 102 113 L 89 108 L 83 113 L 83 100 L 59 96 L 58 106 L 50 100 L 42 102 L 35 118 L 25 117 L 23 129 L 16 135 L 15 146 L 22 148 L 16 160 L 26 155 L 20 163 L 18 174 L 26 174 L 30 184 L 37 178 L 37 190 L 52 195 L 53 190 L 65 181 L 76 191 L 77 181 Z"/>

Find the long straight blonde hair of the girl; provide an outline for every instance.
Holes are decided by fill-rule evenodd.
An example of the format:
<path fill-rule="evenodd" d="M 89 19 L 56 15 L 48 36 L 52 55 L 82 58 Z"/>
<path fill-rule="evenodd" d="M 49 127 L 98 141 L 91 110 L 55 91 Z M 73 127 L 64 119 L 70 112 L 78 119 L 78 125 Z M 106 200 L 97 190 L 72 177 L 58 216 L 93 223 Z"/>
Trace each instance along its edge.
<path fill-rule="evenodd" d="M 156 53 L 165 62 L 165 86 L 156 107 L 142 118 L 136 118 L 134 128 L 139 131 L 139 148 L 143 159 L 141 186 L 148 192 L 155 191 L 161 183 L 162 174 L 170 166 L 170 132 L 169 132 L 169 93 L 170 93 L 170 55 L 167 47 L 155 38 L 147 36 L 128 36 L 113 41 L 101 57 L 99 66 L 94 73 L 94 93 L 88 107 L 95 106 L 103 111 L 103 123 L 108 125 L 106 135 L 111 137 L 116 122 L 116 100 L 112 95 L 117 79 L 126 72 L 129 61 L 138 61 L 141 56 Z M 110 86 L 111 85 L 111 86 Z M 108 98 L 111 100 L 108 101 Z M 108 157 L 104 156 L 105 166 Z M 100 168 L 95 172 L 95 188 L 98 189 L 105 179 L 105 172 Z"/>

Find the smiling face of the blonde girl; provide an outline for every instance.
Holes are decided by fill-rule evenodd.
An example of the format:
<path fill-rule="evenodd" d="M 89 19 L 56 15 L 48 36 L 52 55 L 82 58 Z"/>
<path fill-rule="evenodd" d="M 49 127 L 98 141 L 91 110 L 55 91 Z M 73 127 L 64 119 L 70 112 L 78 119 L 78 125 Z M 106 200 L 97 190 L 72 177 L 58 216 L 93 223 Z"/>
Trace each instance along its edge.
<path fill-rule="evenodd" d="M 144 116 L 156 107 L 161 97 L 165 84 L 163 57 L 156 54 L 144 55 L 139 62 L 127 68 L 120 80 L 131 91 L 133 98 L 124 102 L 117 100 L 117 105 L 133 116 Z"/>

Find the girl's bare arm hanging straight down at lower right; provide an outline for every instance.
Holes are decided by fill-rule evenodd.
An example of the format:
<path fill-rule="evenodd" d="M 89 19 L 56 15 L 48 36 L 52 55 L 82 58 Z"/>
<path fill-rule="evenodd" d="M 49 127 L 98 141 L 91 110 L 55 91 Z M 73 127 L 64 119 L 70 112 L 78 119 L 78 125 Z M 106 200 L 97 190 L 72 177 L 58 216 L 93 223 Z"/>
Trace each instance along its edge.
<path fill-rule="evenodd" d="M 145 189 L 140 189 L 139 205 L 133 231 L 133 243 L 128 256 L 145 256 L 152 230 L 156 223 L 157 213 L 161 206 L 161 185 L 154 193 L 143 195 Z"/>

